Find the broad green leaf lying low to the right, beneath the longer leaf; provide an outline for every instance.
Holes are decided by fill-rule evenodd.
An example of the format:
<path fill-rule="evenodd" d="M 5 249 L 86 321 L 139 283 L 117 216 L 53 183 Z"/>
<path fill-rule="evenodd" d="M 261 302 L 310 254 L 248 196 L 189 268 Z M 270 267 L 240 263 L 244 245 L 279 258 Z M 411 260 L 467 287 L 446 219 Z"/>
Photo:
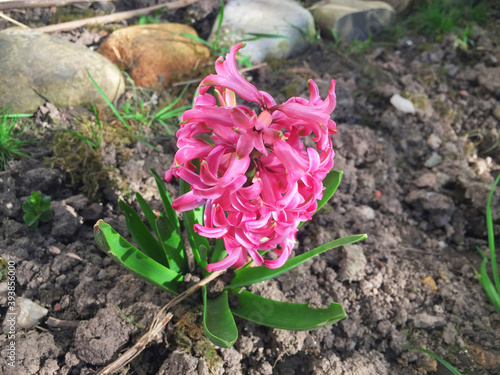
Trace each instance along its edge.
<path fill-rule="evenodd" d="M 345 318 L 342 305 L 331 303 L 327 308 L 309 307 L 307 303 L 279 302 L 260 297 L 243 289 L 235 289 L 239 308 L 234 315 L 264 326 L 294 331 L 324 327 Z"/>

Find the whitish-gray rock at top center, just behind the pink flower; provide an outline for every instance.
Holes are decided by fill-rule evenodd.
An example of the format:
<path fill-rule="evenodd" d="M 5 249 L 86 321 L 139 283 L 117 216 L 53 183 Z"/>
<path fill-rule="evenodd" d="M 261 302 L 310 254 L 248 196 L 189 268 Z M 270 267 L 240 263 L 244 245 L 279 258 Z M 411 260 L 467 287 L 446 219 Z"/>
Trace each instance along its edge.
<path fill-rule="evenodd" d="M 256 22 L 258 20 L 258 22 Z M 215 39 L 217 22 L 209 40 Z M 224 9 L 219 43 L 231 47 L 249 33 L 277 34 L 285 38 L 258 38 L 246 42 L 241 51 L 253 63 L 270 58 L 286 59 L 303 52 L 315 37 L 314 19 L 306 9 L 291 0 L 231 0 Z"/>

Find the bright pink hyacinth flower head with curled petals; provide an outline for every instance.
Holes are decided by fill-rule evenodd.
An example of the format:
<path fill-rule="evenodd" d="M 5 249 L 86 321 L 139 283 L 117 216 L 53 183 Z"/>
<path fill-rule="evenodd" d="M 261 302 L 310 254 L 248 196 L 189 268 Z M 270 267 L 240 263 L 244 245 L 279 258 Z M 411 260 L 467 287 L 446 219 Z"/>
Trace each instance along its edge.
<path fill-rule="evenodd" d="M 179 150 L 165 174 L 167 181 L 175 176 L 191 185 L 173 207 L 182 212 L 205 205 L 204 225 L 196 224 L 195 231 L 224 240 L 228 255 L 209 264 L 208 271 L 241 267 L 248 255 L 257 265 L 281 267 L 298 224 L 311 219 L 323 179 L 333 168 L 335 81 L 325 100 L 311 80 L 309 100 L 293 97 L 276 104 L 238 72 L 235 57 L 242 47 L 234 46 L 225 60 L 220 57 L 217 74 L 201 82 L 193 109 L 183 115 Z M 217 98 L 208 93 L 212 86 Z M 236 105 L 235 93 L 260 106 L 260 113 Z M 316 148 L 303 142 L 311 134 Z M 271 249 L 279 257 L 264 260 L 262 252 Z"/>

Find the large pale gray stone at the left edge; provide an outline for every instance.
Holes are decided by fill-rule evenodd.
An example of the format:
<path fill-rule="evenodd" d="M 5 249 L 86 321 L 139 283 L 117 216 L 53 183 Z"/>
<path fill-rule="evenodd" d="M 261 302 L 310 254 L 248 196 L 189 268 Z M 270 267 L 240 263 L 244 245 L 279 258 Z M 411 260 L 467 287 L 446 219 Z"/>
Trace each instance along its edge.
<path fill-rule="evenodd" d="M 125 91 L 120 70 L 84 46 L 36 30 L 0 32 L 0 109 L 31 113 L 45 102 L 104 104 L 87 71 L 110 100 Z"/>

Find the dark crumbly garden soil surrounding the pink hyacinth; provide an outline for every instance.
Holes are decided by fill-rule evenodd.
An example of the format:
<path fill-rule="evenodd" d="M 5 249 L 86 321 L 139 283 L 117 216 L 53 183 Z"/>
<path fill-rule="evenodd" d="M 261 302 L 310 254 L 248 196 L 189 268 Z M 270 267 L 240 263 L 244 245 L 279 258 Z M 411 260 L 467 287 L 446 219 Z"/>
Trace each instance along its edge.
<path fill-rule="evenodd" d="M 182 22 L 188 13 L 165 18 Z M 47 23 L 48 14 L 27 10 L 21 21 Z M 197 14 L 195 26 L 206 37 L 217 10 Z M 300 230 L 295 255 L 344 235 L 368 234 L 251 291 L 318 307 L 339 302 L 348 316 L 307 332 L 237 319 L 238 341 L 222 349 L 203 336 L 199 310 L 181 305 L 164 334 L 123 373 L 449 373 L 430 356 L 404 349 L 420 346 L 464 375 L 500 374 L 500 315 L 474 274 L 482 260 L 475 247 L 487 249 L 485 206 L 500 171 L 500 40 L 494 27 L 476 28 L 471 38 L 475 46 L 462 50 L 451 36 L 441 42 L 407 36 L 375 43 L 362 55 L 339 53 L 321 40 L 301 56 L 249 72 L 277 102 L 307 96 L 310 78 L 324 97 L 330 79 L 337 80 L 335 168 L 344 177 L 331 202 Z M 416 113 L 392 107 L 394 93 L 411 99 Z M 172 298 L 107 257 L 93 225 L 102 218 L 126 234 L 117 199 L 133 204 L 136 191 L 160 205 L 149 169 L 161 173 L 170 166 L 175 139 L 153 139 L 161 150 L 155 151 L 116 130 L 102 110 L 111 130 L 96 154 L 61 133 L 92 116 L 85 108 L 42 107 L 26 134 L 38 139 L 28 149 L 35 157 L 0 172 L 0 197 L 12 203 L 0 211 L 0 256 L 16 265 L 17 295 L 48 309 L 36 327 L 17 332 L 17 367 L 2 360 L 0 373 L 93 374 L 130 347 Z M 58 145 L 86 156 L 70 163 Z M 168 189 L 176 194 L 176 186 Z M 36 229 L 23 223 L 20 210 L 32 191 L 50 195 L 54 211 Z M 6 346 L 4 335 L 0 345 Z"/>

